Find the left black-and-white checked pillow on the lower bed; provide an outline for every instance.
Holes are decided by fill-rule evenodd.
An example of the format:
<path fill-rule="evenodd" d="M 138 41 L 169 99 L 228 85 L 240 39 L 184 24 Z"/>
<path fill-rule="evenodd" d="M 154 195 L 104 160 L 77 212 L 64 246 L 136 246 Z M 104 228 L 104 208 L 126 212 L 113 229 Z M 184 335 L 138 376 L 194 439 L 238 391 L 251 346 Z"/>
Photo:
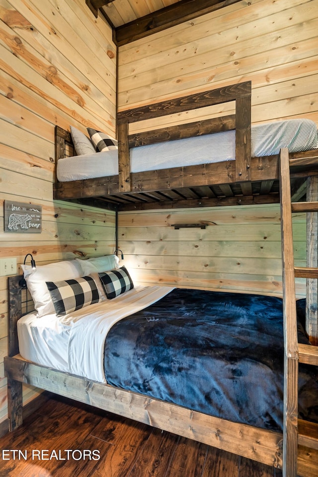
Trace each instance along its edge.
<path fill-rule="evenodd" d="M 57 316 L 98 303 L 101 298 L 90 275 L 60 282 L 46 282 Z"/>

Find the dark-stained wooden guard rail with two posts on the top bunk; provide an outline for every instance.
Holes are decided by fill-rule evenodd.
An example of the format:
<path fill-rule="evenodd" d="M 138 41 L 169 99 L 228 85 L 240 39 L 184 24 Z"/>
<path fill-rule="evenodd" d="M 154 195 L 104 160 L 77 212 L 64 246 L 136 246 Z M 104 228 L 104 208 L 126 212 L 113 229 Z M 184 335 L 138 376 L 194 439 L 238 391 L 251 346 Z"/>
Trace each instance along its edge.
<path fill-rule="evenodd" d="M 229 101 L 235 101 L 235 115 L 129 135 L 130 123 Z M 250 180 L 251 81 L 119 112 L 117 126 L 119 192 L 131 191 L 129 148 L 230 129 L 236 130 L 236 181 Z"/>

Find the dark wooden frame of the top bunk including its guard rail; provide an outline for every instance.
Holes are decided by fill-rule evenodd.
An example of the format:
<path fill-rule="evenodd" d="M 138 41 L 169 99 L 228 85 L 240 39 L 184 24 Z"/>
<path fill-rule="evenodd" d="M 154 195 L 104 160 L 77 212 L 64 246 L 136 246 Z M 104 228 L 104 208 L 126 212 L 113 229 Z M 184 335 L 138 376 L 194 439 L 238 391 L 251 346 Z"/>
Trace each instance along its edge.
<path fill-rule="evenodd" d="M 235 114 L 129 135 L 129 124 L 235 101 Z M 118 113 L 119 174 L 55 182 L 53 198 L 123 210 L 252 205 L 279 202 L 278 155 L 251 158 L 251 82 L 225 86 Z M 235 129 L 236 160 L 130 173 L 129 148 Z M 75 156 L 71 135 L 56 127 L 56 162 Z M 317 159 L 317 151 L 290 159 Z M 315 173 L 315 172 L 313 172 Z M 304 195 L 308 170 L 294 167 L 293 195 Z"/>

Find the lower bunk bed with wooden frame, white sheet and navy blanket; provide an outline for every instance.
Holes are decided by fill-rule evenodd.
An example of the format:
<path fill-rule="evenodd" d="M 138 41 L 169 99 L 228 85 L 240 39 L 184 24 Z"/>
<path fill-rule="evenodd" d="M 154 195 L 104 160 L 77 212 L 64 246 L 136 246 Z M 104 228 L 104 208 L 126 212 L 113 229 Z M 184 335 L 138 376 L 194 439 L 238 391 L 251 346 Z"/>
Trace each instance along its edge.
<path fill-rule="evenodd" d="M 26 383 L 282 467 L 280 298 L 130 282 L 115 299 L 100 297 L 72 314 L 20 319 L 20 278 L 9 278 L 11 356 L 4 361 L 12 430 L 22 423 Z M 299 341 L 309 344 L 304 305 L 297 302 Z M 41 341 L 45 347 L 35 349 Z M 309 477 L 316 474 L 306 467 L 313 456 L 302 447 L 302 428 L 318 429 L 307 421 L 318 422 L 317 369 L 304 365 L 299 376 L 298 473 Z"/>

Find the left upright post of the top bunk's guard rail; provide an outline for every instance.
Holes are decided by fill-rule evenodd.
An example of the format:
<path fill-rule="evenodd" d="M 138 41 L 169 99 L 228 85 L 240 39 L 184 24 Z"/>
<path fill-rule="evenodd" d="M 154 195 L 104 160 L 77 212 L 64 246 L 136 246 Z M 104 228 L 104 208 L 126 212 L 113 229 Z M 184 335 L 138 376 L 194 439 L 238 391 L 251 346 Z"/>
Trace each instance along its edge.
<path fill-rule="evenodd" d="M 119 191 L 130 192 L 130 158 L 128 146 L 128 122 L 118 124 L 118 174 Z"/>

